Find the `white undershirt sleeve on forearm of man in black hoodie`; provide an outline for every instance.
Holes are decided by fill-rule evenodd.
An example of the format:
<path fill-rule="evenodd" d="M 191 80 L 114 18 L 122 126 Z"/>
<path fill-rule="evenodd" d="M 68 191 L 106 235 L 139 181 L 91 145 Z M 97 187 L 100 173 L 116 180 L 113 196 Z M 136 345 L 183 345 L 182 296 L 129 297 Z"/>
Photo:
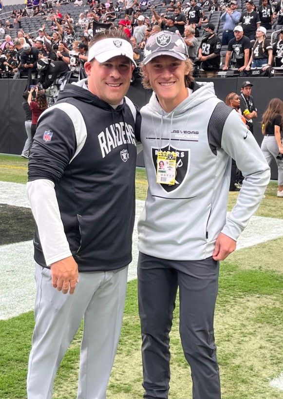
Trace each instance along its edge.
<path fill-rule="evenodd" d="M 54 183 L 38 179 L 27 183 L 27 196 L 38 227 L 46 265 L 72 256 L 60 216 Z"/>

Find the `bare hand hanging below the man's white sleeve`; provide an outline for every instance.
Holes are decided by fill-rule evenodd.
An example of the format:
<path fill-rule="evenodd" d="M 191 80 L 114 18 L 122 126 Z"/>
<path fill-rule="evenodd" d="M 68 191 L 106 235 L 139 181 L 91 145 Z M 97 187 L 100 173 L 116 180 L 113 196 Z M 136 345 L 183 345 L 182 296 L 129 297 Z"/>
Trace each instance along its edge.
<path fill-rule="evenodd" d="M 77 264 L 73 256 L 61 259 L 51 265 L 52 285 L 63 294 L 74 294 L 75 285 L 78 283 Z"/>

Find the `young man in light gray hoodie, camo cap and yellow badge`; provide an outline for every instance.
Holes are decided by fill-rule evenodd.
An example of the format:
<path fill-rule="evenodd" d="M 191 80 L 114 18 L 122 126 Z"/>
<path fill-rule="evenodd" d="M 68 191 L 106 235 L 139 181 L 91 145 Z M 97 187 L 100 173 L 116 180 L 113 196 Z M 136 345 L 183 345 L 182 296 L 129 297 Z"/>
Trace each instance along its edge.
<path fill-rule="evenodd" d="M 216 97 L 213 83 L 193 82 L 192 71 L 180 36 L 164 31 L 149 38 L 142 73 L 145 88 L 154 92 L 141 109 L 149 190 L 138 223 L 145 399 L 168 398 L 178 287 L 193 399 L 221 398 L 213 331 L 219 261 L 235 250 L 270 178 L 240 115 Z M 226 220 L 231 158 L 245 180 Z"/>

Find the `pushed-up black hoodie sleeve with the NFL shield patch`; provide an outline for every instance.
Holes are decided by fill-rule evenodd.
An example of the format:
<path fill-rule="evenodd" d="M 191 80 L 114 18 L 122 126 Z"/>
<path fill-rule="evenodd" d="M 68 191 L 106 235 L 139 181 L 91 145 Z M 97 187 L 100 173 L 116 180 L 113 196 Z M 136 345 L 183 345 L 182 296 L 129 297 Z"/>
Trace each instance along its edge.
<path fill-rule="evenodd" d="M 76 135 L 71 118 L 52 107 L 39 119 L 28 164 L 28 181 L 57 183 L 75 154 Z"/>

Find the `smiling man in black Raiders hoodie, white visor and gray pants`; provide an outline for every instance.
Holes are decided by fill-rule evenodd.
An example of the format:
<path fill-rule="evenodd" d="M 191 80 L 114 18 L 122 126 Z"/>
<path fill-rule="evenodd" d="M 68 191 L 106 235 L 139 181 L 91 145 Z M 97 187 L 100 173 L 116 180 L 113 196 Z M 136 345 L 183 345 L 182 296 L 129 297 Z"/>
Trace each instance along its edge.
<path fill-rule="evenodd" d="M 97 34 L 85 63 L 88 78 L 67 85 L 38 121 L 27 184 L 37 225 L 28 399 L 52 397 L 82 319 L 77 398 L 106 397 L 132 261 L 140 121 L 125 95 L 133 67 L 122 32 Z"/>

